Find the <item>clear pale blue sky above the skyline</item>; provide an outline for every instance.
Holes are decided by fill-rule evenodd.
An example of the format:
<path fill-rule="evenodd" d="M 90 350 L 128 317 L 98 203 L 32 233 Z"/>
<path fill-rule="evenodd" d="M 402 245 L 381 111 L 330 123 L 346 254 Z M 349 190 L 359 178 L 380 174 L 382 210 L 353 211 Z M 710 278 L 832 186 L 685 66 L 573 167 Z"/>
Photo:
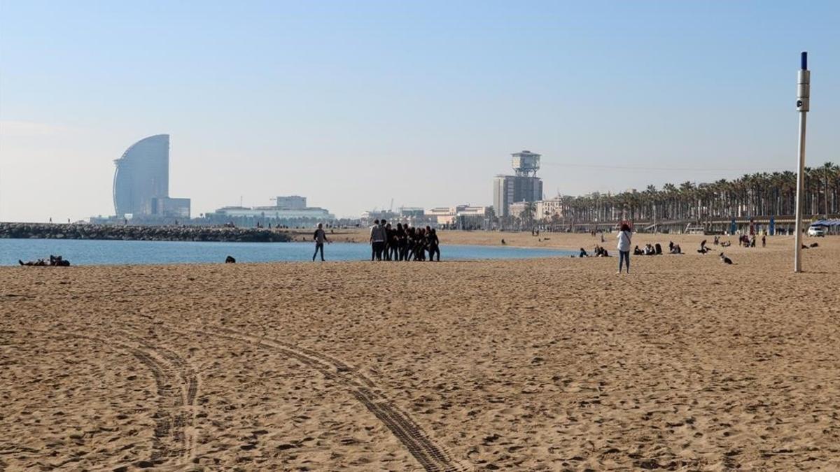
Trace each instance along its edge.
<path fill-rule="evenodd" d="M 0 0 L 0 220 L 113 214 L 170 134 L 194 216 L 302 195 L 339 217 L 840 162 L 840 3 Z"/>

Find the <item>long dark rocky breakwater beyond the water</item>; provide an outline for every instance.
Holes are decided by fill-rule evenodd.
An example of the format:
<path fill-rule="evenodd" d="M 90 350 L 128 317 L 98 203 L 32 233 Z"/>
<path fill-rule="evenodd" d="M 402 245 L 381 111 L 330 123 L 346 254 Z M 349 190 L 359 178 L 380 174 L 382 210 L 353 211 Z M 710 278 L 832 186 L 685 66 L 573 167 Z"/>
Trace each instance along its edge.
<path fill-rule="evenodd" d="M 235 243 L 281 243 L 291 240 L 288 233 L 266 228 L 116 226 L 87 223 L 0 223 L 0 238 L 212 241 Z"/>

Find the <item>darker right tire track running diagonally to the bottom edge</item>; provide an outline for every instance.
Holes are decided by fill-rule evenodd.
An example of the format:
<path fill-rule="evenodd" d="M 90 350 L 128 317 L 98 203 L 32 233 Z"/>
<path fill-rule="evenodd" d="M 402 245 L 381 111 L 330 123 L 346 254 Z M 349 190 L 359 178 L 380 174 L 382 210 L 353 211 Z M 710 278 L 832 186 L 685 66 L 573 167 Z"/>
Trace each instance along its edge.
<path fill-rule="evenodd" d="M 306 349 L 294 344 L 284 343 L 275 339 L 256 337 L 239 333 L 233 329 L 217 328 L 218 332 L 195 331 L 214 338 L 226 338 L 239 343 L 255 344 L 257 348 L 274 349 L 281 354 L 297 359 L 312 369 L 318 370 L 324 377 L 336 380 L 348 387 L 356 400 L 360 401 L 373 415 L 391 430 L 391 433 L 408 449 L 414 459 L 417 459 L 423 469 L 434 472 L 457 472 L 465 467 L 456 462 L 443 446 L 434 443 L 428 433 L 423 430 L 407 412 L 402 411 L 384 396 L 377 385 L 338 359 L 320 354 L 312 349 Z"/>

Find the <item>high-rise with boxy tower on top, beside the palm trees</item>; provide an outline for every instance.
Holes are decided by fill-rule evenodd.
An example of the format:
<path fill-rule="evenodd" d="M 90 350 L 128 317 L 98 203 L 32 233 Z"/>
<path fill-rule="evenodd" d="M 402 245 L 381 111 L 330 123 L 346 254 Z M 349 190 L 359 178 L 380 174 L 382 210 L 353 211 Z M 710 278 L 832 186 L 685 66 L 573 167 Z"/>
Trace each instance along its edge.
<path fill-rule="evenodd" d="M 516 175 L 499 175 L 493 179 L 493 209 L 497 217 L 510 216 L 512 203 L 542 200 L 543 180 L 537 176 L 539 158 L 540 155 L 528 150 L 512 154 Z"/>

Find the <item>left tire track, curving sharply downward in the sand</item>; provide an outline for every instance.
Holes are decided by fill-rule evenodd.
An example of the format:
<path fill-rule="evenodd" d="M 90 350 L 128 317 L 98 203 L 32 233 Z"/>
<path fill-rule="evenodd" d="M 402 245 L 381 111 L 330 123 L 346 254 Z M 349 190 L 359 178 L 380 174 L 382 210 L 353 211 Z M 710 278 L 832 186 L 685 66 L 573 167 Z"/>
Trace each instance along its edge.
<path fill-rule="evenodd" d="M 189 364 L 178 354 L 168 350 L 155 348 L 145 343 L 142 338 L 131 336 L 129 333 L 119 333 L 129 338 L 139 347 L 115 341 L 113 339 L 96 338 L 85 334 L 73 333 L 66 327 L 61 331 L 42 329 L 26 329 L 20 333 L 42 333 L 53 338 L 86 339 L 102 344 L 106 349 L 128 352 L 148 369 L 155 380 L 157 390 L 157 409 L 152 413 L 155 420 L 154 436 L 152 438 L 152 453 L 149 461 L 160 465 L 167 460 L 180 459 L 186 461 L 192 455 L 194 438 L 192 433 L 186 433 L 188 426 L 192 426 L 192 412 L 184 411 L 185 405 L 195 401 L 198 392 L 197 375 Z M 189 374 L 184 374 L 189 372 Z M 181 380 L 179 380 L 179 378 Z M 177 385 L 177 386 L 176 386 Z M 178 392 L 176 392 L 176 390 Z"/>

